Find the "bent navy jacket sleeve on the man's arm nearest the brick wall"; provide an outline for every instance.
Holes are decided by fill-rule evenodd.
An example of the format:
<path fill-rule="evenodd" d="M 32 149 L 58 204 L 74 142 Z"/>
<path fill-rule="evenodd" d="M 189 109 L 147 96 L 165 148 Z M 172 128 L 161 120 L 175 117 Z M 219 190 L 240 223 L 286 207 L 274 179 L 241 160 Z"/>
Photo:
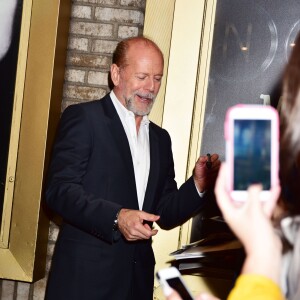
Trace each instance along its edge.
<path fill-rule="evenodd" d="M 93 148 L 93 126 L 80 105 L 63 113 L 53 148 L 46 185 L 46 202 L 66 222 L 112 242 L 117 203 L 96 197 L 83 187 Z"/>

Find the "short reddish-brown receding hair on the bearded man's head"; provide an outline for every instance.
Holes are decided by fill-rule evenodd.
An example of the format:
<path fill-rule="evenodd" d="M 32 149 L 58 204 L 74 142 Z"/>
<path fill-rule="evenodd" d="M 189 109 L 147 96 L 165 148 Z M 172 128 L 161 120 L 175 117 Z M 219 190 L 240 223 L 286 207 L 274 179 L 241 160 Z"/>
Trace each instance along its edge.
<path fill-rule="evenodd" d="M 131 38 L 125 39 L 118 43 L 118 45 L 113 53 L 112 63 L 116 64 L 118 67 L 125 67 L 127 65 L 128 49 L 131 46 L 134 46 L 134 44 L 137 42 L 144 42 L 145 45 L 155 48 L 163 57 L 163 53 L 161 52 L 160 48 L 158 47 L 158 45 L 155 42 L 153 42 L 152 40 L 150 40 L 147 37 L 137 36 L 137 37 L 131 37 Z"/>

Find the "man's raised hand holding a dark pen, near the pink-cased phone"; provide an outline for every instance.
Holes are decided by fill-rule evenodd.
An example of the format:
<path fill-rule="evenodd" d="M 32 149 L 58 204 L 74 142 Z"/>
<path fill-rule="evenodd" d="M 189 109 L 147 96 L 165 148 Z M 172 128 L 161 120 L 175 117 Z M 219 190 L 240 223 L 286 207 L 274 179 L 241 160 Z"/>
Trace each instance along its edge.
<path fill-rule="evenodd" d="M 193 178 L 200 193 L 214 187 L 221 162 L 218 154 L 200 156 L 196 162 Z"/>

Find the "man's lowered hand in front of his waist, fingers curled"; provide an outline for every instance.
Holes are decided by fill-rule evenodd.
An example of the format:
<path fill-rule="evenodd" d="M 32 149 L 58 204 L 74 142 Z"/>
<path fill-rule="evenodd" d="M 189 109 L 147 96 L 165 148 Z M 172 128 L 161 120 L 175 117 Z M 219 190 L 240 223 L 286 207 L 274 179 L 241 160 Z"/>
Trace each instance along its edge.
<path fill-rule="evenodd" d="M 118 227 L 127 241 L 147 240 L 156 235 L 147 221 L 156 222 L 160 217 L 141 210 L 122 208 L 118 215 Z"/>

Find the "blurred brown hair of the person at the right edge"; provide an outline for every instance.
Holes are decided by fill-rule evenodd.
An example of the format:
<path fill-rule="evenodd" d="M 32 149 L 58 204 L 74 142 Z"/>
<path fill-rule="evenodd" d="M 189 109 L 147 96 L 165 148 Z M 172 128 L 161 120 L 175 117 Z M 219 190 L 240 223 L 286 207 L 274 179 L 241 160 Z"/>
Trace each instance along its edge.
<path fill-rule="evenodd" d="M 290 214 L 300 213 L 300 33 L 283 75 L 280 180 Z"/>

